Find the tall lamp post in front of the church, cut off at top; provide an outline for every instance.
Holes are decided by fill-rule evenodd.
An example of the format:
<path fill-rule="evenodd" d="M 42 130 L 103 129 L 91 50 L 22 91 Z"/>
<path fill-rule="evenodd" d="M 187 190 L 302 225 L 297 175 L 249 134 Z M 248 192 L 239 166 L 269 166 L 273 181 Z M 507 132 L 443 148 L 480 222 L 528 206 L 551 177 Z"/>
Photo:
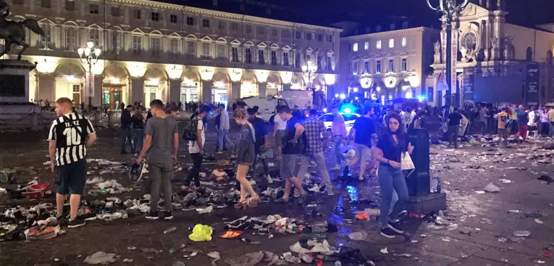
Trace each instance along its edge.
<path fill-rule="evenodd" d="M 447 80 L 447 92 L 445 96 L 445 103 L 450 106 L 452 103 L 452 22 L 454 18 L 458 16 L 459 12 L 467 6 L 469 0 L 463 0 L 463 3 L 458 5 L 456 0 L 438 0 L 438 6 L 434 7 L 431 2 L 427 0 L 427 5 L 432 10 L 442 13 L 443 21 L 446 26 L 446 80 Z M 456 40 L 457 42 L 457 40 Z M 457 52 L 457 51 L 456 51 Z M 454 58 L 454 60 L 458 60 Z M 454 77 L 456 78 L 456 77 Z M 456 103 L 458 104 L 458 103 Z"/>

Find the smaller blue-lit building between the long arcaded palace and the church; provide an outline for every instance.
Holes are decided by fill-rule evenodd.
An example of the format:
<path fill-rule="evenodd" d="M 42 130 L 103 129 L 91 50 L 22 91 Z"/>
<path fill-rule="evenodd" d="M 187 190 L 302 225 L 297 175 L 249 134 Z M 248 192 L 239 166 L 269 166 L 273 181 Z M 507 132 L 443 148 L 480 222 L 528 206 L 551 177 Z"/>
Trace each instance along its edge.
<path fill-rule="evenodd" d="M 350 95 L 391 104 L 395 98 L 427 99 L 434 42 L 440 30 L 406 22 L 365 28 L 341 37 L 340 87 Z"/>

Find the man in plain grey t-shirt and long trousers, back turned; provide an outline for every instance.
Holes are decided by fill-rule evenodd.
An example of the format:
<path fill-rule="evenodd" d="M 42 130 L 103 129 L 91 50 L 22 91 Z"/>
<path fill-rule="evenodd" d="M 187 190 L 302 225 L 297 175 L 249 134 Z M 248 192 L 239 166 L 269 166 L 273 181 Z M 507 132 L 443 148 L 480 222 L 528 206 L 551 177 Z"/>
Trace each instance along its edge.
<path fill-rule="evenodd" d="M 177 149 L 179 148 L 179 130 L 177 121 L 168 116 L 163 110 L 161 100 L 152 100 L 150 103 L 152 118 L 146 123 L 145 140 L 141 154 L 136 158 L 136 163 L 141 163 L 148 149 L 148 166 L 152 179 L 152 197 L 150 198 L 150 212 L 146 218 L 157 220 L 158 201 L 160 198 L 160 186 L 163 188 L 163 200 L 165 204 L 164 220 L 171 220 L 171 173 L 172 163 L 177 161 Z"/>

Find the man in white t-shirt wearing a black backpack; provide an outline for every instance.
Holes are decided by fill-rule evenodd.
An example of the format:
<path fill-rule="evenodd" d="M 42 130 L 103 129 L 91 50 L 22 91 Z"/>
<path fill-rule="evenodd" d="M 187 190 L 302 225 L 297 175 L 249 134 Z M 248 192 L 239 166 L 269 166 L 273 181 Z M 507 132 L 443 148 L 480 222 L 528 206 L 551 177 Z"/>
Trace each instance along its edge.
<path fill-rule="evenodd" d="M 189 139 L 188 141 L 188 152 L 190 157 L 193 158 L 193 168 L 190 168 L 188 175 L 185 178 L 183 183 L 183 190 L 188 190 L 190 186 L 190 181 L 195 181 L 195 187 L 199 188 L 200 186 L 200 168 L 202 167 L 202 159 L 204 158 L 204 143 L 206 142 L 206 132 L 204 130 L 204 122 L 202 121 L 204 117 L 210 112 L 210 107 L 208 105 L 202 105 L 200 111 L 195 118 L 190 121 L 185 127 L 184 139 Z M 191 125 L 196 125 L 195 127 Z M 190 132 L 196 129 L 196 134 Z M 187 136 L 187 137 L 186 137 Z M 190 136 L 195 136 L 196 140 L 190 140 Z"/>

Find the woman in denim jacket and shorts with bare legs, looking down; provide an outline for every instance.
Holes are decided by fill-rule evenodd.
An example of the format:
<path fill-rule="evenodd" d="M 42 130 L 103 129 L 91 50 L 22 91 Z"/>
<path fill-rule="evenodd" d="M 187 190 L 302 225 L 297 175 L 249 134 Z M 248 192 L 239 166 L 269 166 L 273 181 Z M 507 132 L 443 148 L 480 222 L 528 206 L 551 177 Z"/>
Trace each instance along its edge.
<path fill-rule="evenodd" d="M 245 109 L 236 109 L 233 118 L 240 125 L 238 141 L 235 145 L 235 163 L 237 164 L 236 179 L 240 182 L 240 200 L 235 204 L 236 209 L 254 208 L 260 202 L 260 196 L 252 188 L 247 180 L 247 172 L 254 162 L 254 143 L 256 141 L 254 128 L 247 121 Z M 250 202 L 247 201 L 247 192 L 250 194 Z"/>

